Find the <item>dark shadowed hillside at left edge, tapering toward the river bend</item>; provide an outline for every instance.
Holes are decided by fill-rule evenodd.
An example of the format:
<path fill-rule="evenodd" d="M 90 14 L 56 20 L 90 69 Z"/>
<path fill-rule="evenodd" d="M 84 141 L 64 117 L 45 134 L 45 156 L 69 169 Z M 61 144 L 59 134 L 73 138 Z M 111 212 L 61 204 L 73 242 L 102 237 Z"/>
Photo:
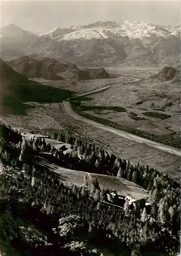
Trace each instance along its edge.
<path fill-rule="evenodd" d="M 0 91 L 0 111 L 2 113 L 26 114 L 29 108 L 26 102 L 51 103 L 62 102 L 71 97 L 74 92 L 50 86 L 43 86 L 38 82 L 28 80 L 26 75 L 22 75 L 10 68 L 1 58 L 1 91 Z"/>

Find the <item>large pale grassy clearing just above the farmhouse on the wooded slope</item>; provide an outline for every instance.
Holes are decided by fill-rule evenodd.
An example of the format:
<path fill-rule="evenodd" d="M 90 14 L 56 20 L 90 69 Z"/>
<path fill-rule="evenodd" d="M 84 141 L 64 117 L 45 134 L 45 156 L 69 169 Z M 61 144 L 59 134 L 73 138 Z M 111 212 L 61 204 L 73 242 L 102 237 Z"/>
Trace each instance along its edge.
<path fill-rule="evenodd" d="M 101 189 L 116 189 L 118 195 L 129 195 L 134 197 L 135 199 L 148 197 L 148 191 L 146 191 L 139 185 L 125 179 L 66 169 L 56 164 L 49 163 L 46 159 L 41 157 L 38 157 L 37 161 L 41 165 L 48 167 L 50 170 L 58 174 L 62 182 L 67 186 L 72 186 L 73 184 L 76 184 L 77 186 L 83 186 L 84 175 L 86 175 L 89 183 L 90 178 L 96 177 L 99 181 Z"/>

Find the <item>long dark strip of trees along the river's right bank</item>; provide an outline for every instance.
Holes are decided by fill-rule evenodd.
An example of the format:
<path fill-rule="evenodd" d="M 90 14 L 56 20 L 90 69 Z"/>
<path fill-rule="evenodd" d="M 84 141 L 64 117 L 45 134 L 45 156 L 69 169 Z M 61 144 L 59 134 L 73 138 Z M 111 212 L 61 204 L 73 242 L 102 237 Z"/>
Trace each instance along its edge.
<path fill-rule="evenodd" d="M 71 103 L 71 108 L 76 113 L 78 113 L 79 115 L 81 115 L 85 118 L 88 118 L 88 119 L 93 120 L 95 122 L 113 127 L 115 129 L 118 129 L 118 130 L 121 130 L 121 131 L 124 131 L 124 132 L 127 132 L 127 133 L 131 133 L 133 135 L 137 135 L 137 136 L 140 136 L 140 137 L 152 140 L 152 141 L 163 143 L 165 145 L 180 148 L 181 139 L 175 138 L 173 135 L 170 135 L 170 134 L 168 134 L 168 135 L 155 135 L 155 134 L 152 134 L 152 133 L 144 132 L 144 131 L 141 131 L 141 130 L 138 130 L 138 129 L 134 129 L 132 127 L 125 126 L 123 124 L 116 123 L 114 121 L 110 121 L 110 120 L 105 119 L 105 118 L 92 116 L 92 115 L 89 115 L 87 113 L 82 113 L 79 110 L 78 103 L 75 103 L 73 101 L 70 102 L 70 103 Z"/>

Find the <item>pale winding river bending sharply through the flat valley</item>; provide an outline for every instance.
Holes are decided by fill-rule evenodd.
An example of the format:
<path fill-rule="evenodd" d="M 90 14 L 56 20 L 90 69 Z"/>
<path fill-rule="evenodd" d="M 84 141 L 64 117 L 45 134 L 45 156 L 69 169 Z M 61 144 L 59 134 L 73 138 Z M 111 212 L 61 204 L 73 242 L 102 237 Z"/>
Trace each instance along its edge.
<path fill-rule="evenodd" d="M 123 85 L 123 84 L 128 84 L 128 83 L 133 83 L 133 82 L 137 82 L 139 81 L 140 78 L 137 78 L 133 81 L 129 81 L 129 82 L 124 82 L 124 83 L 117 83 L 117 84 L 114 84 L 112 86 L 106 86 L 106 87 L 103 87 L 101 89 L 96 89 L 96 90 L 93 90 L 93 91 L 89 91 L 89 92 L 86 92 L 86 93 L 83 93 L 83 94 L 79 94 L 77 96 L 85 96 L 85 95 L 89 95 L 89 94 L 94 94 L 94 93 L 97 93 L 97 92 L 100 92 L 100 91 L 104 91 L 105 89 L 108 89 L 108 88 L 112 88 L 112 87 L 116 87 L 116 86 L 120 86 L 120 85 Z M 75 96 L 74 96 L 75 97 Z M 74 97 L 71 97 L 71 98 L 74 98 Z M 174 155 L 177 155 L 177 156 L 180 156 L 180 150 L 177 149 L 177 148 L 174 148 L 174 147 L 171 147 L 171 146 L 167 146 L 165 144 L 162 144 L 162 143 L 159 143 L 159 142 L 155 142 L 155 141 L 151 141 L 151 140 L 148 140 L 148 139 L 145 139 L 145 138 L 142 138 L 140 136 L 136 136 L 136 135 L 133 135 L 133 134 L 130 134 L 130 133 L 127 133 L 127 132 L 123 132 L 123 131 L 120 131 L 120 130 L 117 130 L 115 128 L 112 128 L 112 127 L 109 127 L 107 125 L 104 125 L 104 124 L 100 124 L 98 122 L 95 122 L 93 120 L 90 120 L 90 119 L 87 119 L 85 117 L 82 117 L 80 115 L 78 115 L 77 113 L 75 113 L 72 108 L 71 108 L 71 104 L 69 102 L 69 100 L 71 99 L 67 99 L 67 101 L 63 101 L 62 102 L 62 108 L 63 108 L 63 111 L 65 113 L 67 113 L 69 116 L 73 117 L 74 119 L 76 120 L 81 120 L 87 124 L 90 124 L 90 125 L 93 125 L 93 126 L 96 126 L 97 128 L 99 129 L 102 129 L 102 130 L 105 130 L 107 132 L 111 132 L 111 133 L 114 133 L 118 136 L 121 136 L 121 137 L 124 137 L 126 139 L 129 139 L 129 140 L 134 140 L 134 141 L 137 141 L 139 143 L 144 143 L 144 144 L 147 144 L 151 147 L 156 147 L 158 148 L 159 150 L 162 150 L 162 151 L 166 151 L 170 154 L 174 154 Z"/>

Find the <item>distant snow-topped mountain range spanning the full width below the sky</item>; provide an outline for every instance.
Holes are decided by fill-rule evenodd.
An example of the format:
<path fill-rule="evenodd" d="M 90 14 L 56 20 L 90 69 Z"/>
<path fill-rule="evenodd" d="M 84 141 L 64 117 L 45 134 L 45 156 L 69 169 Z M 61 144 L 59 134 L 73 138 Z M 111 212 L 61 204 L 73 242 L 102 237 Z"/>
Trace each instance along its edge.
<path fill-rule="evenodd" d="M 0 34 L 4 60 L 30 54 L 73 61 L 78 66 L 110 66 L 117 62 L 127 66 L 173 66 L 180 60 L 180 24 L 96 22 L 38 34 L 11 24 Z"/>

